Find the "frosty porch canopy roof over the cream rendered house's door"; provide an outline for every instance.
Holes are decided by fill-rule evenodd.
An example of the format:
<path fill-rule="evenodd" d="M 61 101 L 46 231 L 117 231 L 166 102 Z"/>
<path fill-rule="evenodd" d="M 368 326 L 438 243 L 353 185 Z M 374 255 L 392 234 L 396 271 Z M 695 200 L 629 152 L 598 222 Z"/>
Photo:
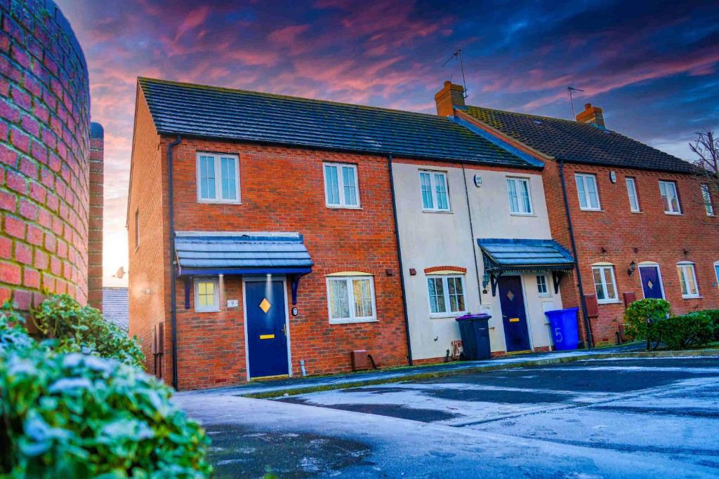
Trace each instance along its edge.
<path fill-rule="evenodd" d="M 485 267 L 499 271 L 536 269 L 572 269 L 574 259 L 554 240 L 537 239 L 478 239 L 485 257 Z"/>

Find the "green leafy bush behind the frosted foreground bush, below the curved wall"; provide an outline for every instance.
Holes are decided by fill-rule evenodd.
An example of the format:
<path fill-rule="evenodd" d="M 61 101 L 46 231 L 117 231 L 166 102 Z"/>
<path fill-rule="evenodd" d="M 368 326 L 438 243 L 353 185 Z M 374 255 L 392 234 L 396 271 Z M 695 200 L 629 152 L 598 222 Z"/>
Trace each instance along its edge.
<path fill-rule="evenodd" d="M 103 319 L 91 306 L 81 306 L 68 294 L 50 294 L 33 312 L 35 324 L 46 338 L 57 340 L 58 352 L 87 348 L 102 358 L 144 367 L 145 354 L 137 338 Z"/>

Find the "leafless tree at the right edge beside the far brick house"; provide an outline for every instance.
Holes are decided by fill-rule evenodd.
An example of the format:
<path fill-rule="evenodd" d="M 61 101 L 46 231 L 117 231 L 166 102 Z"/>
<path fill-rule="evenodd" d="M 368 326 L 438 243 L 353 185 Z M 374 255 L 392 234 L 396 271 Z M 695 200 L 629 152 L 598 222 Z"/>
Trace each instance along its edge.
<path fill-rule="evenodd" d="M 719 215 L 719 138 L 712 130 L 697 131 L 697 138 L 689 144 L 695 152 L 695 176 L 702 188 L 700 201 L 707 215 Z"/>

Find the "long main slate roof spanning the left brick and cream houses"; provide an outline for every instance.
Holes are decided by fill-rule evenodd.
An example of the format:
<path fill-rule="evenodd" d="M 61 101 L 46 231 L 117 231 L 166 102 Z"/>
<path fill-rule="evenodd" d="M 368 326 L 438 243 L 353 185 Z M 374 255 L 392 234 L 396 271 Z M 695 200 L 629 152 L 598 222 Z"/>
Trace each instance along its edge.
<path fill-rule="evenodd" d="M 151 78 L 160 134 L 537 168 L 447 118 Z"/>

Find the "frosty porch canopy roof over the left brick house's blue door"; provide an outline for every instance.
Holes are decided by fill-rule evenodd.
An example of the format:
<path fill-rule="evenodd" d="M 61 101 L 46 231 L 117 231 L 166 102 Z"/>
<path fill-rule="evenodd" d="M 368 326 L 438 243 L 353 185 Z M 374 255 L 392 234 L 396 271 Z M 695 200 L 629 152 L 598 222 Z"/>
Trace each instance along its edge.
<path fill-rule="evenodd" d="M 298 233 L 178 231 L 175 252 L 180 274 L 210 274 L 211 271 L 242 274 L 278 269 L 309 272 L 313 265 Z"/>

